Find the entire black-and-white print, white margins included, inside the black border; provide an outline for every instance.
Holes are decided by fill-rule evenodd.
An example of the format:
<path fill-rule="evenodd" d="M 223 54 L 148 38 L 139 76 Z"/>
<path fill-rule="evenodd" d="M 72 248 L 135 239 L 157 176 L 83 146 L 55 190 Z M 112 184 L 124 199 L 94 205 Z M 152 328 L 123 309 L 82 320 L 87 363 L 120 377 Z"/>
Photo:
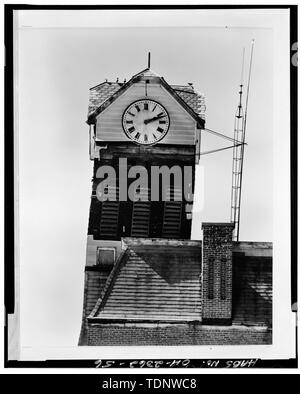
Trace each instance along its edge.
<path fill-rule="evenodd" d="M 14 357 L 291 352 L 288 18 L 14 14 Z"/>

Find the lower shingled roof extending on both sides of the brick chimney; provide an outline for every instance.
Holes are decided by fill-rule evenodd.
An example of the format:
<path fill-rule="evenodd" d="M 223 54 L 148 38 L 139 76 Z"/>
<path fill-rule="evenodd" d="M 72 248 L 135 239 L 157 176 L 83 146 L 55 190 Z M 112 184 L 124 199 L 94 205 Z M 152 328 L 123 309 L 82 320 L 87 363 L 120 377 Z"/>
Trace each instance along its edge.
<path fill-rule="evenodd" d="M 201 241 L 124 239 L 89 318 L 190 322 L 201 316 Z M 236 244 L 234 325 L 272 326 L 272 244 Z"/>

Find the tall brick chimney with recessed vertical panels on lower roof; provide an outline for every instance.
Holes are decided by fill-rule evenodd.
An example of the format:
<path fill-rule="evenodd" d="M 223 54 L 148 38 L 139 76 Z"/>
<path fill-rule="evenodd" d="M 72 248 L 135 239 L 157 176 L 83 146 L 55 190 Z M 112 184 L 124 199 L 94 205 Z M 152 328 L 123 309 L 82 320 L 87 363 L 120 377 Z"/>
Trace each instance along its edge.
<path fill-rule="evenodd" d="M 202 223 L 202 323 L 231 324 L 233 223 Z"/>

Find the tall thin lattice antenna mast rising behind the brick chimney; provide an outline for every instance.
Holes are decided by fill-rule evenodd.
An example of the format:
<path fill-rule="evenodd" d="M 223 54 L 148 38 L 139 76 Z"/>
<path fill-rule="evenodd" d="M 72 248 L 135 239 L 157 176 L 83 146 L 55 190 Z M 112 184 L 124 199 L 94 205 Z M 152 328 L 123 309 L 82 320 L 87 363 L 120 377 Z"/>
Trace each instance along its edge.
<path fill-rule="evenodd" d="M 243 48 L 241 84 L 239 91 L 240 97 L 239 97 L 239 104 L 234 121 L 234 148 L 233 148 L 233 160 L 232 160 L 231 217 L 230 217 L 231 222 L 235 224 L 234 232 L 233 232 L 234 241 L 239 241 L 239 232 L 240 232 L 240 210 L 241 210 L 241 190 L 242 190 L 243 164 L 244 164 L 244 147 L 245 147 L 245 133 L 246 133 L 250 77 L 252 71 L 253 48 L 254 48 L 254 40 L 252 40 L 252 45 L 251 45 L 251 57 L 250 57 L 245 113 L 242 107 L 243 86 L 244 86 L 243 85 L 244 61 L 245 61 L 245 48 Z"/>

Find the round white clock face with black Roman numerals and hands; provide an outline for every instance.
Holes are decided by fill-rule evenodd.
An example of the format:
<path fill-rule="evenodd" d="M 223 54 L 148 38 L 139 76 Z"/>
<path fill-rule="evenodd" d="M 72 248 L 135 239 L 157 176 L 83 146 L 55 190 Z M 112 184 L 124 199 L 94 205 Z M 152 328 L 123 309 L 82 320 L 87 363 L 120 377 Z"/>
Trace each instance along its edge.
<path fill-rule="evenodd" d="M 138 100 L 130 104 L 123 114 L 126 135 L 142 145 L 155 144 L 167 134 L 170 118 L 166 109 L 153 100 Z"/>

